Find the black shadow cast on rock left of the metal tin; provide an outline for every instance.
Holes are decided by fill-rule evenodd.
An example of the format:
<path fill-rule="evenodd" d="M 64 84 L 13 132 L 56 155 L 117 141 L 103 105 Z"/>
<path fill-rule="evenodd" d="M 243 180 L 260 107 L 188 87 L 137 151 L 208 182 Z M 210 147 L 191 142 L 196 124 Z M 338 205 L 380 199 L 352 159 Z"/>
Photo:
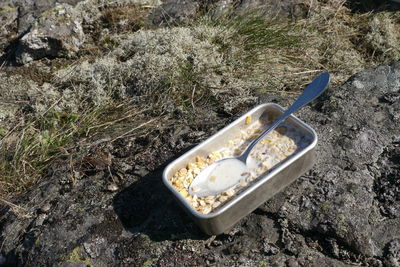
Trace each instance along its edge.
<path fill-rule="evenodd" d="M 153 241 L 207 239 L 162 182 L 162 165 L 115 195 L 113 206 L 125 230 Z"/>

